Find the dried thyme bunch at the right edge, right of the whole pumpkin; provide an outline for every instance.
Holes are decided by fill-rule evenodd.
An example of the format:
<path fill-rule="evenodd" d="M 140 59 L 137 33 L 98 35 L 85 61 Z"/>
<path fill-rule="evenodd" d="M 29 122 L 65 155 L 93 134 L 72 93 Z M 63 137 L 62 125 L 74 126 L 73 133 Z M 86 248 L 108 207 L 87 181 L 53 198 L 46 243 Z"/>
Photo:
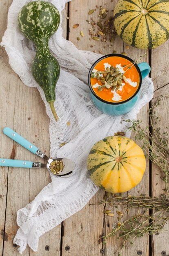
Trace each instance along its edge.
<path fill-rule="evenodd" d="M 167 96 L 168 97 L 168 96 Z M 161 97 L 158 98 L 153 108 L 149 109 L 150 127 L 141 128 L 140 120 L 124 120 L 131 122 L 129 130 L 133 131 L 134 139 L 138 142 L 145 155 L 149 157 L 151 162 L 156 164 L 162 171 L 162 180 L 165 182 L 165 191 L 169 193 L 169 145 L 168 145 L 168 127 L 166 131 L 160 131 L 160 119 L 156 115 L 156 109 L 160 105 Z"/>

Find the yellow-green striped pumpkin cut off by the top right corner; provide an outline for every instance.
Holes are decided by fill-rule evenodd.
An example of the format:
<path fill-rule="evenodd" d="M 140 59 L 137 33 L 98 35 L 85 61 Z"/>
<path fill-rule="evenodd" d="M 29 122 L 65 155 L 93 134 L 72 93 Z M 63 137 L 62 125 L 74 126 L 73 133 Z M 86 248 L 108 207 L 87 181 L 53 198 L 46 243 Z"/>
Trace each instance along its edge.
<path fill-rule="evenodd" d="M 122 40 L 139 49 L 152 49 L 169 38 L 169 0 L 119 0 L 114 26 Z"/>

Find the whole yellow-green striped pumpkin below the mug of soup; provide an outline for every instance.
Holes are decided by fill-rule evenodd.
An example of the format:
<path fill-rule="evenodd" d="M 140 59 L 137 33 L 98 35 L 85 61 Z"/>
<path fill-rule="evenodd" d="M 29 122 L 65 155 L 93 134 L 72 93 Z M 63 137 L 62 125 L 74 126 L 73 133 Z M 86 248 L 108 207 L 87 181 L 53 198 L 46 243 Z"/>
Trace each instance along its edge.
<path fill-rule="evenodd" d="M 132 139 L 109 136 L 91 148 L 87 168 L 96 186 L 111 193 L 125 192 L 142 180 L 145 155 Z"/>

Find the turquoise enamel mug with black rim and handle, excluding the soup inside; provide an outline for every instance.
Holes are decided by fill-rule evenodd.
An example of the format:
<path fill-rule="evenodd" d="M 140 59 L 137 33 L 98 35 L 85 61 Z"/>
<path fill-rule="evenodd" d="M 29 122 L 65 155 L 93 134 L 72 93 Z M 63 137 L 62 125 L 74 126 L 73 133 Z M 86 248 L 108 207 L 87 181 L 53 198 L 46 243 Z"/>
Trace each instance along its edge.
<path fill-rule="evenodd" d="M 107 54 L 105 56 L 102 56 L 101 58 L 99 58 L 92 65 L 92 67 L 89 71 L 89 75 L 88 75 L 88 83 L 89 83 L 89 88 L 91 90 L 91 92 L 90 92 L 91 99 L 92 99 L 93 103 L 96 105 L 96 107 L 100 111 L 102 111 L 102 112 L 104 112 L 108 115 L 118 116 L 118 115 L 126 114 L 134 108 L 134 106 L 138 102 L 138 99 L 139 99 L 139 96 L 140 96 L 140 89 L 141 89 L 141 85 L 142 85 L 142 79 L 144 79 L 149 74 L 149 72 L 151 70 L 151 67 L 146 62 L 142 62 L 142 63 L 139 63 L 139 64 L 134 64 L 134 66 L 136 67 L 136 69 L 138 71 L 138 74 L 140 76 L 140 83 L 138 85 L 138 89 L 136 90 L 136 92 L 129 99 L 127 99 L 125 101 L 120 101 L 120 102 L 105 101 L 104 99 L 101 99 L 100 97 L 98 97 L 98 95 L 93 91 L 92 86 L 91 86 L 91 82 L 90 82 L 90 78 L 91 78 L 92 70 L 96 66 L 96 64 L 98 62 L 100 62 L 102 59 L 108 58 L 108 57 L 111 57 L 111 56 L 118 56 L 118 57 L 121 57 L 121 58 L 126 58 L 127 60 L 131 61 L 131 63 L 134 62 L 131 58 L 129 58 L 127 56 L 124 56 L 122 54 Z"/>

